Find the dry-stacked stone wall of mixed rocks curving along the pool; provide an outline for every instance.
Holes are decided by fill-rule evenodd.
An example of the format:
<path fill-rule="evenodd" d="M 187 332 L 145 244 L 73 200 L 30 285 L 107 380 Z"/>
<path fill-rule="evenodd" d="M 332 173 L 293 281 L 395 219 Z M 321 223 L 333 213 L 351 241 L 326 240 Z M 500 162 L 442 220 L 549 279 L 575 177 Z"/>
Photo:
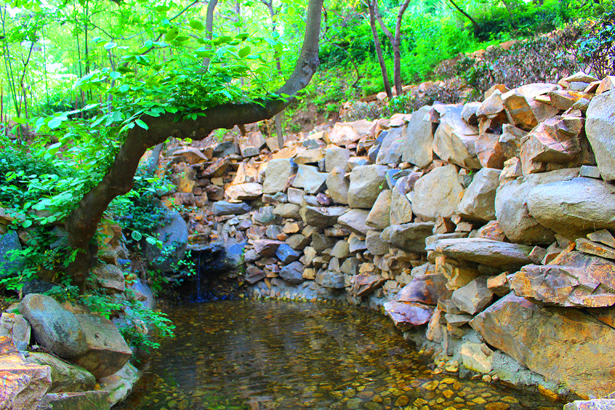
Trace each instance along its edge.
<path fill-rule="evenodd" d="M 170 152 L 190 240 L 256 298 L 382 309 L 445 371 L 615 390 L 615 77 Z"/>

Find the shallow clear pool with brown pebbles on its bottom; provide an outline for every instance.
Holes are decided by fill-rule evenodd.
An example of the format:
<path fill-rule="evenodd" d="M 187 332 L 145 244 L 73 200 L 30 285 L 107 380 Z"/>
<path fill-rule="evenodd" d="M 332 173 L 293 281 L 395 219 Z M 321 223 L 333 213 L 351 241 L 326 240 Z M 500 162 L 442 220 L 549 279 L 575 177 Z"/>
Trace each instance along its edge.
<path fill-rule="evenodd" d="M 433 369 L 391 321 L 333 304 L 222 301 L 170 310 L 122 410 L 560 410 L 546 398 Z M 430 366 L 431 365 L 431 366 Z M 435 373 L 435 374 L 434 374 Z"/>

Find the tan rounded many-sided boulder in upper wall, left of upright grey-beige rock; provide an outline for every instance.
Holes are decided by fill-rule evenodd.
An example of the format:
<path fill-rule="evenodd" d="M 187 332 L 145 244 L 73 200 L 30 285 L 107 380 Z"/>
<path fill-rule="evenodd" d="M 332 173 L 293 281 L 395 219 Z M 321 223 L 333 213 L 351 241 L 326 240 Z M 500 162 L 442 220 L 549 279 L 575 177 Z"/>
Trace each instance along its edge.
<path fill-rule="evenodd" d="M 464 187 L 453 165 L 435 168 L 416 181 L 412 195 L 412 211 L 422 219 L 434 221 L 437 216 L 450 218 L 456 211 Z"/>

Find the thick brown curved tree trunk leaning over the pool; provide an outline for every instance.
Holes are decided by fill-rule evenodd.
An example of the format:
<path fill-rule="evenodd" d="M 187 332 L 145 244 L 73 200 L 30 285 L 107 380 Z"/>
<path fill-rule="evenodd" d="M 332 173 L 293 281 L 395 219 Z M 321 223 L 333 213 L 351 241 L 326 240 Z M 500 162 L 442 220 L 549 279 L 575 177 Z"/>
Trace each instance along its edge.
<path fill-rule="evenodd" d="M 288 81 L 277 90 L 278 95 L 295 95 L 304 89 L 312 79 L 319 65 L 318 42 L 320 33 L 320 12 L 323 0 L 310 0 L 306 13 L 306 31 L 303 47 L 295 70 Z M 129 130 L 113 164 L 104 178 L 93 187 L 66 218 L 68 244 L 76 250 L 76 258 L 68 268 L 68 275 L 80 291 L 85 290 L 85 279 L 95 260 L 96 246 L 92 239 L 98 229 L 103 214 L 115 197 L 124 195 L 132 189 L 133 176 L 139 160 L 148 148 L 160 144 L 170 136 L 202 140 L 217 128 L 232 128 L 238 124 L 251 124 L 270 119 L 293 101 L 271 99 L 243 104 L 224 104 L 204 111 L 205 116 L 197 120 L 174 122 L 175 114 L 159 117 L 141 116 L 148 130 L 134 127 Z"/>

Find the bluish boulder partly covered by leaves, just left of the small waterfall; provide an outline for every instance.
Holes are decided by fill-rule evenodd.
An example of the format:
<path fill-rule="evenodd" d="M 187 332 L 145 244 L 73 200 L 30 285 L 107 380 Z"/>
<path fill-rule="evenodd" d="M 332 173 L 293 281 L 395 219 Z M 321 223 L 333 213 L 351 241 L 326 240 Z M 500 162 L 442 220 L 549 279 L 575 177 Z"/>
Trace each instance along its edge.
<path fill-rule="evenodd" d="M 175 264 L 184 259 L 188 245 L 188 226 L 177 212 L 169 215 L 169 220 L 154 231 L 154 237 L 162 241 L 162 248 L 143 240 L 145 259 L 152 269 L 173 272 Z"/>

